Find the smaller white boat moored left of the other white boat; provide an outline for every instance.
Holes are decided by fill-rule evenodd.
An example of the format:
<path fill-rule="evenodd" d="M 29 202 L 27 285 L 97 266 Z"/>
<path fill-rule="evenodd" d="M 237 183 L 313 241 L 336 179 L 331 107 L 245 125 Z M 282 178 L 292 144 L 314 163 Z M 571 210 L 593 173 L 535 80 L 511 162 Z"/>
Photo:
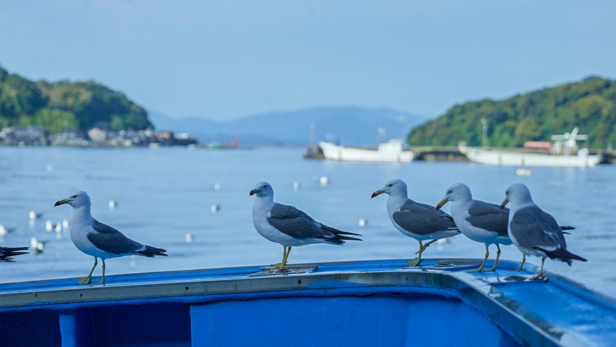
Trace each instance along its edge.
<path fill-rule="evenodd" d="M 402 149 L 402 140 L 390 139 L 379 144 L 377 149 L 345 147 L 331 142 L 319 142 L 319 147 L 327 160 L 345 162 L 412 162 L 413 152 Z"/>

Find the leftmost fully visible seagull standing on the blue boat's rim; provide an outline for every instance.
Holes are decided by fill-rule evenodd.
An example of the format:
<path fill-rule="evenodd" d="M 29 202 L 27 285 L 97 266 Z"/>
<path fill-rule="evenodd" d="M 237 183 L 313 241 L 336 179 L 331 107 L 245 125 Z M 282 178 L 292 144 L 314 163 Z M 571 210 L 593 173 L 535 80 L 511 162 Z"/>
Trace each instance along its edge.
<path fill-rule="evenodd" d="M 105 259 L 118 256 L 141 255 L 141 256 L 167 256 L 165 249 L 141 245 L 141 243 L 124 236 L 120 231 L 111 226 L 98 222 L 90 214 L 90 196 L 86 192 L 75 192 L 66 199 L 56 201 L 54 206 L 68 203 L 72 206 L 70 217 L 70 239 L 77 249 L 89 256 L 94 257 L 94 266 L 86 277 L 79 278 L 79 284 L 89 284 L 92 272 L 102 260 L 102 279 L 94 284 L 105 282 Z"/>

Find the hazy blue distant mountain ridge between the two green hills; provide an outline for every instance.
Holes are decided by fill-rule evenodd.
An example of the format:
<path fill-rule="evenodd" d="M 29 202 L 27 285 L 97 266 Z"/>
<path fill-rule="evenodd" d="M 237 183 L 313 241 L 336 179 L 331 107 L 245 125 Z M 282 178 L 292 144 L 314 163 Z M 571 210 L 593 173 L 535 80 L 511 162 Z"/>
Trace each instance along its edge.
<path fill-rule="evenodd" d="M 239 144 L 307 146 L 310 124 L 315 124 L 315 140 L 337 139 L 347 146 L 376 146 L 389 138 L 404 139 L 414 125 L 425 121 L 394 109 L 363 107 L 318 107 L 299 111 L 255 114 L 232 121 L 216 122 L 205 118 L 173 119 L 149 111 L 157 130 L 189 132 L 200 142 L 228 143 L 238 137 Z M 377 133 L 383 128 L 385 133 Z"/>

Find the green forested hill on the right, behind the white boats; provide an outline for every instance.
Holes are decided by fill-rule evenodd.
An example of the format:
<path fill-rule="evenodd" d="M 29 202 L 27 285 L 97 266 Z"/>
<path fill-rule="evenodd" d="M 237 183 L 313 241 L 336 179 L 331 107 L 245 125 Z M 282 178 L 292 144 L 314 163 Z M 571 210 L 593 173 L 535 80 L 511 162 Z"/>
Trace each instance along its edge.
<path fill-rule="evenodd" d="M 513 98 L 455 105 L 443 116 L 418 125 L 409 145 L 468 146 L 482 143 L 482 118 L 487 120 L 487 145 L 517 147 L 524 141 L 550 141 L 552 134 L 575 127 L 589 139 L 584 147 L 616 145 L 616 81 L 589 77 L 578 83 L 544 88 Z"/>

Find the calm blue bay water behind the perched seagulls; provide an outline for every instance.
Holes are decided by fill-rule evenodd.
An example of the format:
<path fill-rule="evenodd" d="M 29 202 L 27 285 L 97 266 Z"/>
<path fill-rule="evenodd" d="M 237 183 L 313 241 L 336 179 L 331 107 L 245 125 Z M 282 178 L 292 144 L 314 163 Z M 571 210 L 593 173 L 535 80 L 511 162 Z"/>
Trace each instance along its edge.
<path fill-rule="evenodd" d="M 0 263 L 0 282 L 87 275 L 93 258 L 72 245 L 68 231 L 45 231 L 70 219 L 71 208 L 54 203 L 76 190 L 92 198 L 92 213 L 139 242 L 163 247 L 168 258 L 127 256 L 106 261 L 109 275 L 130 272 L 219 268 L 276 263 L 282 247 L 261 238 L 252 224 L 255 183 L 267 180 L 274 199 L 297 206 L 338 229 L 361 233 L 363 242 L 343 247 L 294 247 L 290 263 L 412 258 L 415 240 L 390 224 L 386 195 L 370 194 L 391 178 L 409 185 L 409 196 L 436 205 L 451 183 L 471 187 L 473 197 L 500 203 L 511 183 L 526 183 L 535 202 L 561 225 L 576 226 L 567 236 L 571 252 L 586 263 L 546 261 L 546 268 L 616 295 L 616 167 L 487 167 L 460 162 L 359 164 L 303 160 L 303 148 L 190 150 L 187 148 L 0 148 L 0 224 L 16 227 L 0 245 L 27 246 L 30 238 L 49 240 L 41 254 Z M 313 178 L 327 176 L 328 185 Z M 299 190 L 294 183 L 299 182 Z M 215 189 L 215 185 L 219 187 Z M 109 208 L 109 201 L 117 207 Z M 212 212 L 212 205 L 219 210 Z M 450 203 L 444 210 L 449 212 Z M 29 211 L 42 213 L 29 220 Z M 361 227 L 359 220 L 368 223 Z M 194 242 L 186 242 L 190 233 Z M 502 259 L 520 261 L 514 246 L 502 247 Z M 496 249 L 491 258 L 495 255 Z M 457 236 L 434 244 L 424 256 L 481 258 L 484 246 Z M 540 264 L 537 258 L 529 259 Z M 95 271 L 100 275 L 100 268 Z"/>

